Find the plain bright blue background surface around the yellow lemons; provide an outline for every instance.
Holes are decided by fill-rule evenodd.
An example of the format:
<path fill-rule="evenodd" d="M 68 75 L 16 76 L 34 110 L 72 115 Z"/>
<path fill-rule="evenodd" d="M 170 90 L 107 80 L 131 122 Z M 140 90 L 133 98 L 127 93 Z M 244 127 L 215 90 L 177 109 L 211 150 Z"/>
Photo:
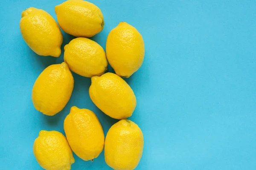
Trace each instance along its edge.
<path fill-rule="evenodd" d="M 90 79 L 74 73 L 73 94 L 63 111 L 51 117 L 33 107 L 35 80 L 47 66 L 63 62 L 63 47 L 74 37 L 63 32 L 61 57 L 38 56 L 20 34 L 21 12 L 33 6 L 56 19 L 54 7 L 62 2 L 1 2 L 1 170 L 41 170 L 33 142 L 40 130 L 64 133 L 73 105 L 94 111 L 105 134 L 117 122 L 90 100 Z M 104 30 L 92 38 L 104 49 L 108 33 L 121 21 L 144 38 L 143 65 L 125 79 L 137 97 L 130 119 L 145 141 L 137 170 L 255 170 L 256 1 L 90 2 L 104 15 Z M 111 169 L 103 152 L 94 162 L 75 159 L 72 170 Z"/>

